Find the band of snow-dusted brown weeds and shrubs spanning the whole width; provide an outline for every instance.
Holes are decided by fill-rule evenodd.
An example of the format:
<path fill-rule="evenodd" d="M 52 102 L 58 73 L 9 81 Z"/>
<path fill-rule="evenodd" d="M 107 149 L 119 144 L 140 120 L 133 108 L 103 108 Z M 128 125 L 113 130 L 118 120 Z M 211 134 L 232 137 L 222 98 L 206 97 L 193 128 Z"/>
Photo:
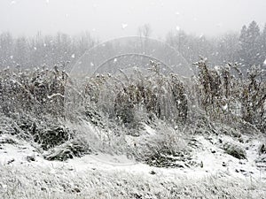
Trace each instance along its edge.
<path fill-rule="evenodd" d="M 169 141 L 175 141 L 176 134 L 186 126 L 186 134 L 217 134 L 214 120 L 227 124 L 236 121 L 242 125 L 241 133 L 246 126 L 265 130 L 265 82 L 258 68 L 244 78 L 237 65 L 213 69 L 205 60 L 196 65 L 199 73 L 193 81 L 174 73 L 160 73 L 160 64 L 153 61 L 148 70 L 133 68 L 133 73 L 120 70 L 83 80 L 70 80 L 59 66 L 33 71 L 5 69 L 0 72 L 1 114 L 12 121 L 12 134 L 31 139 L 45 150 L 65 146 L 82 134 L 86 145 L 93 142 L 93 149 L 131 153 L 134 149 L 127 145 L 126 135 L 141 137 L 145 125 L 156 126 L 158 121 L 169 128 L 175 126 L 176 130 L 163 130 L 151 136 L 151 142 L 140 144 L 141 150 L 151 155 L 140 157 L 147 161 L 153 157 L 164 159 L 165 154 L 179 156 L 179 142 Z M 237 106 L 239 114 L 234 111 Z M 62 125 L 66 119 L 82 124 L 81 128 Z M 95 129 L 84 127 L 87 123 Z M 1 127 L 0 133 L 2 129 L 6 130 Z M 166 137 L 169 131 L 174 131 L 172 137 Z M 72 156 L 69 147 L 57 151 L 61 151 L 60 158 Z"/>

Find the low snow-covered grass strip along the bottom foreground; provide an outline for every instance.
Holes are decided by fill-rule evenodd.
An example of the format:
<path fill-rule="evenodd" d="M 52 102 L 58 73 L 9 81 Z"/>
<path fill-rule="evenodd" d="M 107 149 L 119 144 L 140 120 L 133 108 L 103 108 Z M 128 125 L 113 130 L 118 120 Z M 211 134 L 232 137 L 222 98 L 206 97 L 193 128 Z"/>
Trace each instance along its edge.
<path fill-rule="evenodd" d="M 181 172 L 139 164 L 105 165 L 90 156 L 67 163 L 36 161 L 0 165 L 1 198 L 263 198 L 266 195 L 265 181 L 237 178 L 222 171 L 198 175 L 200 171 Z"/>

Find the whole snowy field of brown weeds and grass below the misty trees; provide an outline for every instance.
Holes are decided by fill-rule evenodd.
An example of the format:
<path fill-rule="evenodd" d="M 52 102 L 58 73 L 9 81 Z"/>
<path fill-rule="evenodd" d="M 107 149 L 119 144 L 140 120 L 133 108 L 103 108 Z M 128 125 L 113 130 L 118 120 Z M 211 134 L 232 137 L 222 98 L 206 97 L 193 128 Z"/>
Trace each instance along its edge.
<path fill-rule="evenodd" d="M 0 72 L 1 198 L 265 198 L 266 82 L 194 64 Z"/>

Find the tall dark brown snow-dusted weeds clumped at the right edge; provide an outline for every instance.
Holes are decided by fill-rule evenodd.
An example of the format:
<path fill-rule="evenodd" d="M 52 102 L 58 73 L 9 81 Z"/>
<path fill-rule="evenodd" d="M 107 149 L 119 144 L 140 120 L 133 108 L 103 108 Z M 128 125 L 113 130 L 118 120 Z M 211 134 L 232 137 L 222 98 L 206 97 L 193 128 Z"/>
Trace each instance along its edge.
<path fill-rule="evenodd" d="M 195 92 L 200 107 L 214 120 L 241 122 L 244 120 L 265 132 L 265 75 L 252 66 L 243 76 L 238 65 L 207 66 L 206 59 L 195 63 Z"/>

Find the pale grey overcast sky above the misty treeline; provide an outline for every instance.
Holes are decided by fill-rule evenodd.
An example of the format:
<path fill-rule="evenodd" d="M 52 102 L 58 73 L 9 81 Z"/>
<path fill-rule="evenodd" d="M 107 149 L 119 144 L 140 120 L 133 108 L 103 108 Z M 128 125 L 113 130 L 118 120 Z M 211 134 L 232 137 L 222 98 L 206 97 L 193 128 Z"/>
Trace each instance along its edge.
<path fill-rule="evenodd" d="M 137 34 L 150 24 L 155 38 L 239 31 L 266 22 L 266 0 L 0 0 L 0 32 L 33 35 L 90 32 L 101 40 Z"/>

